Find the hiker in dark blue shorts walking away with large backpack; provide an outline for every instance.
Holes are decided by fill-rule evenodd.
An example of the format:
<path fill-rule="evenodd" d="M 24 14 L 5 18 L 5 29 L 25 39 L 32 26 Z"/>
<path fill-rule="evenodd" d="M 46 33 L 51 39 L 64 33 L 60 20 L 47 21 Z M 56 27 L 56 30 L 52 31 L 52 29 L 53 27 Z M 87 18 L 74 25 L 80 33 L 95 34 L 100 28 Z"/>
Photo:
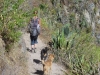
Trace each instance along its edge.
<path fill-rule="evenodd" d="M 38 12 L 34 11 L 33 17 L 31 18 L 31 21 L 29 23 L 29 32 L 30 32 L 30 40 L 31 40 L 31 51 L 34 50 L 34 53 L 36 53 L 35 49 L 37 46 L 37 39 L 38 35 L 40 34 L 40 19 L 38 18 Z"/>

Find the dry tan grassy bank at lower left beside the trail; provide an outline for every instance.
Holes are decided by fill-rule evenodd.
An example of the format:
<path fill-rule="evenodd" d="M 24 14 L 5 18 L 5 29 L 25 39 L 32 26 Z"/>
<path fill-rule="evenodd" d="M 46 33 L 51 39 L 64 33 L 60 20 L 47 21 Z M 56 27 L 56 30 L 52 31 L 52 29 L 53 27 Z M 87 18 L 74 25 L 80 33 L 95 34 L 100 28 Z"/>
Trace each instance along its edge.
<path fill-rule="evenodd" d="M 1 48 L 1 47 L 0 47 Z M 22 52 L 18 43 L 10 50 L 9 54 L 0 54 L 0 75 L 29 75 L 27 68 L 27 55 Z"/>

